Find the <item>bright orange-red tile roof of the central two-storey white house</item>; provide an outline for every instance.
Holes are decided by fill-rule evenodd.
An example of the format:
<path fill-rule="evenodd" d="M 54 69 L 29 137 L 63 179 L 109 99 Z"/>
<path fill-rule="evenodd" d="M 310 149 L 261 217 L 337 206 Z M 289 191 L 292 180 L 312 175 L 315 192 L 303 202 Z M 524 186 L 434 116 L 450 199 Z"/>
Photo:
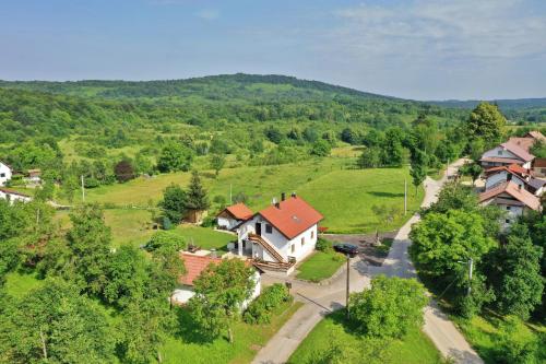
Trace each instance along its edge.
<path fill-rule="evenodd" d="M 300 197 L 289 197 L 259 212 L 284 236 L 292 239 L 324 219 Z"/>

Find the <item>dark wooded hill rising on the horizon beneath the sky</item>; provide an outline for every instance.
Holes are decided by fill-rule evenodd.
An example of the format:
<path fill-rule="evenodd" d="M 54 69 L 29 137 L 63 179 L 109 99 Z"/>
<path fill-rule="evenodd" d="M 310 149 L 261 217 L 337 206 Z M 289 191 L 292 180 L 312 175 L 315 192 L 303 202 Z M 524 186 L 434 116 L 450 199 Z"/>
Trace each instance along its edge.
<path fill-rule="evenodd" d="M 0 87 L 23 89 L 100 98 L 173 98 L 271 102 L 285 99 L 321 101 L 339 97 L 357 99 L 396 98 L 286 75 L 222 74 L 165 81 L 0 81 Z"/>

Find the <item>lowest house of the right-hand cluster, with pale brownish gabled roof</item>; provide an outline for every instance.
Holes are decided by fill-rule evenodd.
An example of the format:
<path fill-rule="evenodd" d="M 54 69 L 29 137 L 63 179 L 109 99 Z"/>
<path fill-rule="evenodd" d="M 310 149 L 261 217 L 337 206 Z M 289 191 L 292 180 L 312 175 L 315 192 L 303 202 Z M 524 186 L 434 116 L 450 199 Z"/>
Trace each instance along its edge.
<path fill-rule="evenodd" d="M 479 195 L 479 203 L 496 204 L 507 212 L 502 227 L 507 228 L 530 210 L 539 211 L 541 200 L 521 185 L 506 181 Z"/>

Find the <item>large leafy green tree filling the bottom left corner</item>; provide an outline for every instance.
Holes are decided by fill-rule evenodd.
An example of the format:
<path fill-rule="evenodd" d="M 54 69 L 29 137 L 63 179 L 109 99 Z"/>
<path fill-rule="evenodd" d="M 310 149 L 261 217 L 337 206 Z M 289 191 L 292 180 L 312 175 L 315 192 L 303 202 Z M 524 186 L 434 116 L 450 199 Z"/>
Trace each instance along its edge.
<path fill-rule="evenodd" d="M 0 362 L 111 363 L 115 339 L 98 305 L 61 280 L 0 304 Z"/>

